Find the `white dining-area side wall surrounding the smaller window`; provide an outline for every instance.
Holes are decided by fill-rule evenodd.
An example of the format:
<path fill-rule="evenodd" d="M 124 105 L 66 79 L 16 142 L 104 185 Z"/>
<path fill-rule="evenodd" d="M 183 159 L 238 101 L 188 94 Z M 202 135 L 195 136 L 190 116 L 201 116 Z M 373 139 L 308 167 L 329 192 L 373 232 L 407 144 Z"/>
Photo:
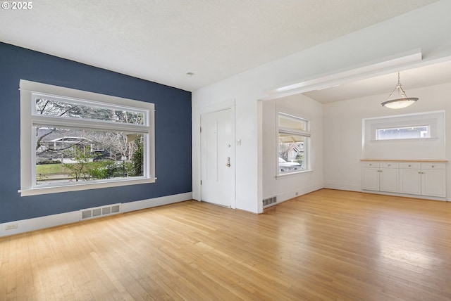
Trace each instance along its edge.
<path fill-rule="evenodd" d="M 262 158 L 263 198 L 277 196 L 278 203 L 323 187 L 323 105 L 302 94 L 263 103 Z M 276 178 L 278 158 L 277 112 L 310 121 L 309 162 L 311 172 Z M 297 193 L 297 194 L 296 194 Z"/>

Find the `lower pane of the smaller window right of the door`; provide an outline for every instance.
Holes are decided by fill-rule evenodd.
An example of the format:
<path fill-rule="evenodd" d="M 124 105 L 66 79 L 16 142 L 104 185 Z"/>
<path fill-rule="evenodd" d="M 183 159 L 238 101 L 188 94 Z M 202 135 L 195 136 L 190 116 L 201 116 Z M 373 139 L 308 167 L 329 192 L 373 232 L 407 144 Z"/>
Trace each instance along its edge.
<path fill-rule="evenodd" d="M 306 169 L 307 139 L 306 136 L 279 133 L 279 174 Z"/>

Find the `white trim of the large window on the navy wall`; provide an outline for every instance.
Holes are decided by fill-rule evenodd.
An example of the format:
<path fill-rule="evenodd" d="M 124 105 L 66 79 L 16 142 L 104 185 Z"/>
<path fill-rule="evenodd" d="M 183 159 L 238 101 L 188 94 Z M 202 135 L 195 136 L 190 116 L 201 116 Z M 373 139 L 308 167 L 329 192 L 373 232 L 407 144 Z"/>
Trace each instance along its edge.
<path fill-rule="evenodd" d="M 73 120 L 56 116 L 42 116 L 35 114 L 35 105 L 32 102 L 33 95 L 56 96 L 66 100 L 76 100 L 78 102 L 98 103 L 103 107 L 113 108 L 123 107 L 139 110 L 147 114 L 147 122 L 144 125 L 113 124 L 94 122 L 91 120 Z M 61 184 L 54 186 L 35 186 L 35 137 L 32 135 L 32 128 L 39 124 L 57 125 L 68 128 L 80 129 L 106 129 L 121 132 L 147 134 L 144 154 L 144 176 L 132 179 L 109 179 L 93 182 L 82 182 L 76 184 Z M 155 132 L 154 132 L 154 104 L 144 101 L 116 96 L 107 96 L 88 91 L 80 91 L 65 87 L 57 87 L 50 84 L 41 84 L 20 79 L 20 196 L 34 196 L 44 193 L 60 193 L 67 191 L 82 191 L 93 188 L 106 188 L 113 186 L 125 186 L 134 184 L 154 183 L 155 177 Z"/>

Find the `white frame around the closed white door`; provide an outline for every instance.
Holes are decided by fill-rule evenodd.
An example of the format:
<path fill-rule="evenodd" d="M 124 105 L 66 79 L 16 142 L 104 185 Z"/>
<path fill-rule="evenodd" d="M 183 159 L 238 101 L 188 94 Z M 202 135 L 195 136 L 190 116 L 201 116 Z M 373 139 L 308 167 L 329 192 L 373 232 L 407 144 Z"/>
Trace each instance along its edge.
<path fill-rule="evenodd" d="M 231 126 L 232 126 L 232 139 L 233 139 L 233 143 L 231 143 L 231 147 L 232 147 L 231 156 L 232 156 L 232 158 L 230 158 L 230 160 L 233 162 L 233 165 L 231 166 L 231 168 L 233 168 L 233 172 L 232 172 L 232 179 L 231 179 L 231 181 L 232 181 L 232 184 L 231 184 L 232 200 L 230 201 L 230 208 L 235 209 L 236 208 L 235 99 L 231 99 L 229 101 L 223 101 L 221 103 L 216 103 L 214 105 L 208 105 L 206 107 L 195 109 L 195 116 L 197 118 L 196 118 L 196 123 L 195 124 L 193 123 L 193 131 L 196 131 L 195 133 L 197 133 L 197 134 L 195 136 L 198 135 L 199 138 L 196 139 L 197 141 L 193 141 L 193 143 L 196 143 L 196 146 L 197 146 L 197 149 L 199 150 L 199 152 L 197 152 L 196 154 L 193 153 L 193 157 L 194 157 L 194 155 L 196 156 L 196 161 L 198 163 L 197 166 L 196 166 L 196 171 L 197 171 L 198 177 L 193 177 L 193 188 L 194 188 L 194 186 L 197 188 L 197 191 L 199 191 L 199 201 L 202 200 L 202 186 L 200 184 L 200 180 L 202 179 L 202 154 L 201 154 L 201 149 L 202 149 L 201 143 L 202 143 L 202 140 L 201 140 L 201 134 L 200 134 L 201 115 L 208 114 L 208 113 L 215 113 L 215 112 L 218 112 L 218 111 L 221 111 L 221 110 L 228 110 L 228 109 L 230 109 Z M 198 179 L 196 179 L 196 178 L 198 178 Z"/>

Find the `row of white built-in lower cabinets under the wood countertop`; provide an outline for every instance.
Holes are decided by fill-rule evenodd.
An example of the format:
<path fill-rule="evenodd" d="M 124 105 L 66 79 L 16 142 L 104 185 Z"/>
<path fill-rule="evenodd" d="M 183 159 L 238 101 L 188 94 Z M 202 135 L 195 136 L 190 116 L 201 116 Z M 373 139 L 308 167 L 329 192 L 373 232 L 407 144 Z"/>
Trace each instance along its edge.
<path fill-rule="evenodd" d="M 362 162 L 362 189 L 446 197 L 445 162 Z"/>

